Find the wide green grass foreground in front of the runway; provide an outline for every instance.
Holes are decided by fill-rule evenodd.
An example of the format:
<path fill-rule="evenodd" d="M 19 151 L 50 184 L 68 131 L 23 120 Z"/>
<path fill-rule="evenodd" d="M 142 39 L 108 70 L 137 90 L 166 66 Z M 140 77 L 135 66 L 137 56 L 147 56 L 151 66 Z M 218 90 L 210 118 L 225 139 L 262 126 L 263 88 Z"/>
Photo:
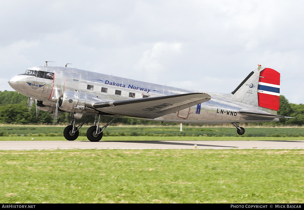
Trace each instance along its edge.
<path fill-rule="evenodd" d="M 0 152 L 1 203 L 303 203 L 304 150 Z"/>

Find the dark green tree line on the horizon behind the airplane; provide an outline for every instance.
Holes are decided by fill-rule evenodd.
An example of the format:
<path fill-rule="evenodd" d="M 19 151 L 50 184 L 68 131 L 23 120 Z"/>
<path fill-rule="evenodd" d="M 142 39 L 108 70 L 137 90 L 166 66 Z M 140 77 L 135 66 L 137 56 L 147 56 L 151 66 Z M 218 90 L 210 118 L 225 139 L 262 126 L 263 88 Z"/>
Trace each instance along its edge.
<path fill-rule="evenodd" d="M 36 120 L 35 103 L 29 112 L 27 105 L 28 97 L 18 94 L 16 91 L 0 91 L 0 123 L 1 124 L 68 124 L 71 121 L 70 113 L 61 113 L 58 120 L 54 121 L 49 112 L 40 111 Z M 292 119 L 281 119 L 279 122 L 261 123 L 263 125 L 304 125 L 304 104 L 289 103 L 280 96 L 280 108 L 278 115 L 295 117 Z M 83 121 L 83 119 L 81 120 Z M 109 117 L 102 117 L 101 122 L 110 121 Z M 92 122 L 92 121 L 89 121 Z M 113 122 L 115 123 L 115 122 Z M 159 124 L 159 122 L 148 120 L 137 120 L 131 118 L 119 118 L 122 124 Z"/>

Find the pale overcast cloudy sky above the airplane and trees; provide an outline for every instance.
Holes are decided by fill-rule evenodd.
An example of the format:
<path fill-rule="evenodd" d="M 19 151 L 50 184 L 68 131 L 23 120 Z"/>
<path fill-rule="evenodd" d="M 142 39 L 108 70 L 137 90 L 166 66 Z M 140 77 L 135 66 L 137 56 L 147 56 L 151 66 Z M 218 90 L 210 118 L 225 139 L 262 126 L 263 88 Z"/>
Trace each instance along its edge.
<path fill-rule="evenodd" d="M 304 1 L 0 2 L 0 90 L 45 61 L 208 92 L 232 92 L 258 64 L 304 103 Z M 50 64 L 50 63 L 49 63 Z"/>

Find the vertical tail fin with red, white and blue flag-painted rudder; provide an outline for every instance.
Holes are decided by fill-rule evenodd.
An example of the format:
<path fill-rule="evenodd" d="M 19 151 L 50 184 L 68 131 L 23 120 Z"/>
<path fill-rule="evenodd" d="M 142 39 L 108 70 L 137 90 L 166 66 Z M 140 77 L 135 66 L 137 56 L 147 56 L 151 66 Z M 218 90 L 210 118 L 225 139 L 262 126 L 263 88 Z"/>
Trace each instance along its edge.
<path fill-rule="evenodd" d="M 280 73 L 270 68 L 255 69 L 232 94 L 234 101 L 278 110 Z"/>

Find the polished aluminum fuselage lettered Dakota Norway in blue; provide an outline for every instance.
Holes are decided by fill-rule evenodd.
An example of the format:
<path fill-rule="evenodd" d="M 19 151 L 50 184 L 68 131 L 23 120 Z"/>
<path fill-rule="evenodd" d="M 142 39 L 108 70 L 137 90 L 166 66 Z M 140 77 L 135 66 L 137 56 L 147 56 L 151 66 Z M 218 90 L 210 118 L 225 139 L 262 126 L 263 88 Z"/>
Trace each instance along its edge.
<path fill-rule="evenodd" d="M 20 74 L 13 76 L 9 83 L 19 93 L 49 103 L 50 106 L 47 110 L 49 112 L 54 110 L 57 103 L 52 100 L 55 96 L 54 90 L 56 88 L 60 91 L 60 95 L 63 91 L 77 91 L 91 94 L 104 101 L 168 96 L 182 93 L 208 93 L 211 96 L 211 100 L 209 101 L 149 120 L 195 124 L 278 121 L 277 118 L 265 119 L 242 115 L 239 113 L 240 110 L 258 110 L 260 112 L 272 112 L 274 114 L 276 114 L 276 112 L 233 101 L 233 95 L 231 93 L 209 93 L 187 90 L 67 67 L 36 66 L 29 69 L 54 73 L 54 80 L 39 78 L 34 75 Z M 102 90 L 105 91 L 105 89 L 106 92 L 102 92 Z M 120 95 L 117 93 L 120 93 Z M 92 101 L 92 103 L 94 103 L 94 101 Z M 84 111 L 82 110 L 82 112 Z M 94 113 L 91 111 L 86 114 Z"/>

